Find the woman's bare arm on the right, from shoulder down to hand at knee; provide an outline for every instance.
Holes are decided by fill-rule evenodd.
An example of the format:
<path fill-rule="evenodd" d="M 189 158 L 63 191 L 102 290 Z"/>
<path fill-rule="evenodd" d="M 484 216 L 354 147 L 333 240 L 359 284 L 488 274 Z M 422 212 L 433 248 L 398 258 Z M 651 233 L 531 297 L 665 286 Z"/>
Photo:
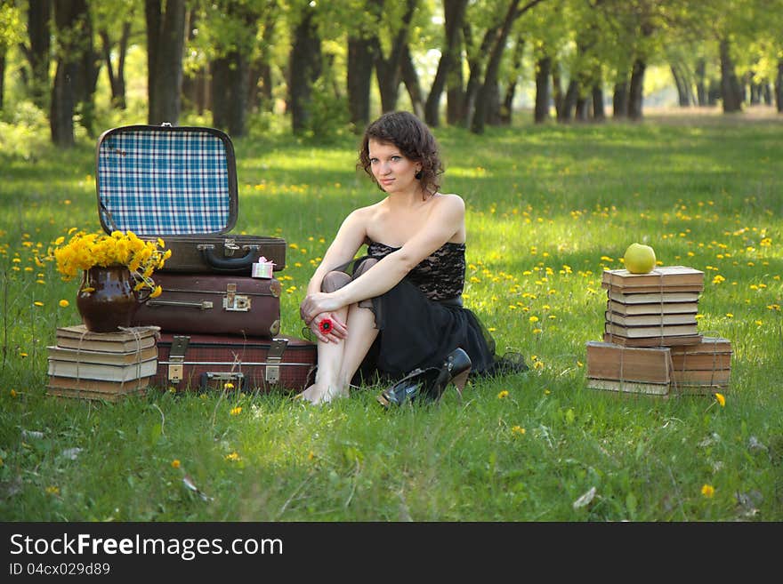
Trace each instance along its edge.
<path fill-rule="evenodd" d="M 330 293 L 308 287 L 308 295 L 301 306 L 303 316 L 305 319 L 312 318 L 321 312 L 336 310 L 388 292 L 419 262 L 452 239 L 463 225 L 464 201 L 459 196 L 444 196 L 415 236 L 408 239 L 399 250 L 378 261 L 361 277 Z"/>

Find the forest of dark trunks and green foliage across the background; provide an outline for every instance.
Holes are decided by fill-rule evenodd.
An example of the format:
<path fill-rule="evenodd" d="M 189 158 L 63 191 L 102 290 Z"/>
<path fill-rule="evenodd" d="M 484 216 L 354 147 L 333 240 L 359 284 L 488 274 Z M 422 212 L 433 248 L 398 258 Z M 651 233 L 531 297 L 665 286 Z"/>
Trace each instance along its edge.
<path fill-rule="evenodd" d="M 395 108 L 480 133 L 525 99 L 537 123 L 639 120 L 666 70 L 682 107 L 780 112 L 781 20 L 781 0 L 4 0 L 0 109 L 65 147 L 120 120 L 327 138 Z"/>

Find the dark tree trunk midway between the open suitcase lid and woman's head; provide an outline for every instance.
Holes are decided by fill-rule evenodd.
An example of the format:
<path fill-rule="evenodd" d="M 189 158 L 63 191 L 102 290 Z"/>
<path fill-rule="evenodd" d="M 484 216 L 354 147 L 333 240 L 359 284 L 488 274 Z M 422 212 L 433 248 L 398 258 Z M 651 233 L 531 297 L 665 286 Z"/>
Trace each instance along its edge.
<path fill-rule="evenodd" d="M 289 58 L 289 100 L 291 129 L 301 134 L 310 129 L 312 84 L 321 74 L 321 40 L 313 7 L 304 7 L 302 20 L 294 30 Z"/>

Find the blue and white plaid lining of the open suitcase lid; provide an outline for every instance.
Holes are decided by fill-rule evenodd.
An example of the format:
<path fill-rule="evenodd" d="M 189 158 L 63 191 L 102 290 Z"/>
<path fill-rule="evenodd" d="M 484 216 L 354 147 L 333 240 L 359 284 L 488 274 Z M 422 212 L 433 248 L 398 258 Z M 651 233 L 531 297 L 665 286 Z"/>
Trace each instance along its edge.
<path fill-rule="evenodd" d="M 99 199 L 112 228 L 137 235 L 218 233 L 230 212 L 222 140 L 208 132 L 120 132 L 98 150 Z"/>

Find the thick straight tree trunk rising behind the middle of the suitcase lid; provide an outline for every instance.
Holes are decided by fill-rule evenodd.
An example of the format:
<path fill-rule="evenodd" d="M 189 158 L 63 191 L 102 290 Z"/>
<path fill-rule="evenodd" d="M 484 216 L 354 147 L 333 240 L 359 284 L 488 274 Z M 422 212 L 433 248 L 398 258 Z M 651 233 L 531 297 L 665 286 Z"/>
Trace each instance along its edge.
<path fill-rule="evenodd" d="M 149 124 L 176 125 L 182 109 L 182 50 L 185 0 L 145 0 L 147 19 Z"/>

